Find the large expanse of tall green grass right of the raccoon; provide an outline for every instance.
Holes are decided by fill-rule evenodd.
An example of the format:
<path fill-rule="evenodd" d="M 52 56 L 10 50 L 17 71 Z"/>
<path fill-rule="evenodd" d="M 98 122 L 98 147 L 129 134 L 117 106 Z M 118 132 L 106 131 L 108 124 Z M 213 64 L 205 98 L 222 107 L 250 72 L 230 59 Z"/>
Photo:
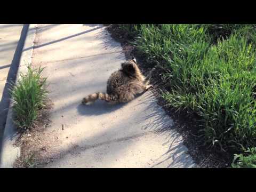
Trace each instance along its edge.
<path fill-rule="evenodd" d="M 254 25 L 121 26 L 149 66 L 168 69 L 163 98 L 200 117 L 207 147 L 244 153 L 256 146 Z"/>

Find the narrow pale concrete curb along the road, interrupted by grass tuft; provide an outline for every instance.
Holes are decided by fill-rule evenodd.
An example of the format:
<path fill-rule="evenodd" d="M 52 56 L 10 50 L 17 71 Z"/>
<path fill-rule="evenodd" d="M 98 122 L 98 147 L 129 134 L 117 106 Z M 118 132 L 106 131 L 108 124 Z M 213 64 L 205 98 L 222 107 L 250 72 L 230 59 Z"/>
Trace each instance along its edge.
<path fill-rule="evenodd" d="M 27 35 L 25 39 L 24 46 L 22 48 L 21 58 L 19 62 L 19 68 L 17 71 L 17 78 L 15 83 L 17 83 L 20 73 L 26 73 L 26 64 L 31 63 L 34 40 L 36 35 L 37 24 L 25 24 L 23 28 L 27 29 Z M 23 29 L 22 29 L 23 30 Z M 25 32 L 26 33 L 26 32 Z M 21 34 L 22 36 L 22 34 Z M 2 168 L 12 168 L 15 160 L 20 156 L 20 147 L 14 147 L 13 144 L 18 138 L 17 127 L 12 121 L 12 105 L 13 100 L 10 100 L 9 111 L 6 118 L 6 124 L 3 134 L 2 150 L 0 154 L 0 167 Z"/>

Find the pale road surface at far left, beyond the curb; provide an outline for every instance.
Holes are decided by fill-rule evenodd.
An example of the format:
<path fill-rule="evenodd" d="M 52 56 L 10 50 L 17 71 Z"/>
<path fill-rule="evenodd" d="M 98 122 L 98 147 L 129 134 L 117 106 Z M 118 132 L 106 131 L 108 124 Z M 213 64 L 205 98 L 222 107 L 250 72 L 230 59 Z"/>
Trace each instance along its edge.
<path fill-rule="evenodd" d="M 19 65 L 17 49 L 23 24 L 0 24 L 0 149 L 9 108 L 10 95 L 7 82 L 15 81 Z"/>

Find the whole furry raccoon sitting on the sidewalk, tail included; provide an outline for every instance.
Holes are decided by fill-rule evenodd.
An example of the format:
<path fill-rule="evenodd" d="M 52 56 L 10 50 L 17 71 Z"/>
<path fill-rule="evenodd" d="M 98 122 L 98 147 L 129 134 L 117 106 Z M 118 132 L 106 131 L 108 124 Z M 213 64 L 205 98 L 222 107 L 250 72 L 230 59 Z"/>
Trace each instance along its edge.
<path fill-rule="evenodd" d="M 110 103 L 125 103 L 134 99 L 137 94 L 153 87 L 149 78 L 142 75 L 136 59 L 123 62 L 121 69 L 115 71 L 107 81 L 107 93 L 93 93 L 83 98 L 83 105 L 89 105 L 97 99 Z"/>

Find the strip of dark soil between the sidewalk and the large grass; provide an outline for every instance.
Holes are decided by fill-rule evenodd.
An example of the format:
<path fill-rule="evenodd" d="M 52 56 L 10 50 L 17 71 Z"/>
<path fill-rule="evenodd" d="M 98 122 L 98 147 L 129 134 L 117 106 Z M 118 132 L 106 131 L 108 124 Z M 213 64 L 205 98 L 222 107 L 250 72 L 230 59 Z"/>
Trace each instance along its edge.
<path fill-rule="evenodd" d="M 207 149 L 203 145 L 203 138 L 198 133 L 197 121 L 199 117 L 196 114 L 189 114 L 187 111 L 177 113 L 173 107 L 167 106 L 168 103 L 161 97 L 160 91 L 169 89 L 168 85 L 162 81 L 162 74 L 165 72 L 164 69 L 149 67 L 145 59 L 137 54 L 135 46 L 129 43 L 132 39 L 127 39 L 127 35 L 123 34 L 123 31 L 119 30 L 115 25 L 109 25 L 107 30 L 112 38 L 121 43 L 126 59 L 131 59 L 132 57 L 137 59 L 143 74 L 148 75 L 154 70 L 154 73 L 151 73 L 151 84 L 154 85 L 151 91 L 157 98 L 158 105 L 162 106 L 166 114 L 173 119 L 174 127 L 182 135 L 183 144 L 188 148 L 188 154 L 193 158 L 195 163 L 199 167 L 204 168 L 230 167 L 233 155 Z"/>

